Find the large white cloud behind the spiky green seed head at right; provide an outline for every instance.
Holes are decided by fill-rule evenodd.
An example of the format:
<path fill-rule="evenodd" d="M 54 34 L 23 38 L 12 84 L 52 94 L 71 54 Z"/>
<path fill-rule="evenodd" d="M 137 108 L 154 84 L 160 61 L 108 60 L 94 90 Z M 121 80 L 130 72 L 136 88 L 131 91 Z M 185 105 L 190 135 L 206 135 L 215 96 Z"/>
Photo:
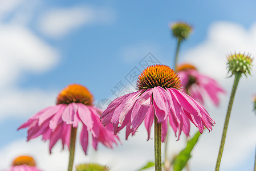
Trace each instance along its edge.
<path fill-rule="evenodd" d="M 226 89 L 227 93 L 222 96 L 219 108 L 213 108 L 206 104 L 210 115 L 216 120 L 213 132 L 204 133 L 200 142 L 193 151 L 190 160 L 192 170 L 214 170 L 218 149 L 220 147 L 222 129 L 226 109 L 229 102 L 230 91 L 234 77 L 227 78 L 226 55 L 230 52 L 249 52 L 256 55 L 256 25 L 246 30 L 240 25 L 230 22 L 213 23 L 208 32 L 208 38 L 197 47 L 185 52 L 183 62 L 191 62 L 199 71 L 216 78 Z M 255 116 L 251 112 L 251 95 L 256 93 L 256 68 L 252 68 L 252 76 L 245 76 L 238 84 L 237 93 L 231 111 L 229 129 L 227 130 L 226 144 L 221 161 L 222 169 L 236 169 L 237 166 L 246 162 L 247 158 L 255 151 Z M 251 164 L 253 166 L 253 164 Z M 251 167 L 252 168 L 252 167 Z"/>

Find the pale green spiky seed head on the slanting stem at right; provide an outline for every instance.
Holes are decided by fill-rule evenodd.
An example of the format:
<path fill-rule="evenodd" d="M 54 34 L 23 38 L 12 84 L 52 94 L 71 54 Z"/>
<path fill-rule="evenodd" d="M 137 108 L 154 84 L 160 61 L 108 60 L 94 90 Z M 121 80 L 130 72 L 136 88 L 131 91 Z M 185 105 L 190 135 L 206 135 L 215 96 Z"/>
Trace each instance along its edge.
<path fill-rule="evenodd" d="M 229 68 L 228 72 L 231 72 L 231 76 L 236 73 L 241 73 L 251 75 L 251 63 L 253 62 L 253 59 L 250 57 L 250 55 L 245 54 L 230 54 L 227 56 L 227 66 Z"/>

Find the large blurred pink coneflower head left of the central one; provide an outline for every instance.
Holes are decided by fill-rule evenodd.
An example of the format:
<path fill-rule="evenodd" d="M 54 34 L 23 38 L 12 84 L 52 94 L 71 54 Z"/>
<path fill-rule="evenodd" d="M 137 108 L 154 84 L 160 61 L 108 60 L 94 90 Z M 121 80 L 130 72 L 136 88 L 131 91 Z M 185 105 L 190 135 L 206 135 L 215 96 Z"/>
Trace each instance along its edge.
<path fill-rule="evenodd" d="M 18 129 L 29 128 L 27 141 L 40 135 L 43 136 L 44 141 L 50 140 L 51 153 L 52 147 L 58 140 L 62 140 L 63 148 L 65 144 L 69 148 L 71 127 L 77 128 L 78 124 L 82 123 L 80 143 L 84 153 L 87 154 L 88 132 L 91 132 L 92 146 L 95 150 L 99 142 L 108 148 L 113 148 L 112 144 L 117 144 L 116 139 L 119 138 L 113 135 L 111 124 L 103 127 L 99 119 L 101 111 L 92 103 L 93 96 L 86 87 L 72 84 L 59 93 L 56 105 L 42 109 Z"/>

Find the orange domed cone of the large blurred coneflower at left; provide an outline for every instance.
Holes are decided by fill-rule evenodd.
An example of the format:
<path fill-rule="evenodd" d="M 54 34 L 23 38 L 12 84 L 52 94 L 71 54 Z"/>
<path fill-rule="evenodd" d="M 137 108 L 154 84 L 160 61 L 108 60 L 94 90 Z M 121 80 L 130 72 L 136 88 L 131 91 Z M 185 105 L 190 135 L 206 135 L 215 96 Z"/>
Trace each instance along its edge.
<path fill-rule="evenodd" d="M 86 87 L 72 84 L 59 93 L 56 104 L 83 103 L 92 105 L 93 102 L 94 97 Z"/>

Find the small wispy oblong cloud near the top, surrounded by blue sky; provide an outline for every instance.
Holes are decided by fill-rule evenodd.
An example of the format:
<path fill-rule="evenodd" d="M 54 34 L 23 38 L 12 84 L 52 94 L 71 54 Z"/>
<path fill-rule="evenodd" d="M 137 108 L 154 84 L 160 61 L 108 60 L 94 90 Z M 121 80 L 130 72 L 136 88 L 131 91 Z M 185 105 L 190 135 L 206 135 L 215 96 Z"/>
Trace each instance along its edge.
<path fill-rule="evenodd" d="M 112 22 L 115 15 L 109 9 L 72 7 L 53 9 L 44 13 L 39 21 L 39 30 L 47 36 L 59 38 L 82 25 Z"/>

